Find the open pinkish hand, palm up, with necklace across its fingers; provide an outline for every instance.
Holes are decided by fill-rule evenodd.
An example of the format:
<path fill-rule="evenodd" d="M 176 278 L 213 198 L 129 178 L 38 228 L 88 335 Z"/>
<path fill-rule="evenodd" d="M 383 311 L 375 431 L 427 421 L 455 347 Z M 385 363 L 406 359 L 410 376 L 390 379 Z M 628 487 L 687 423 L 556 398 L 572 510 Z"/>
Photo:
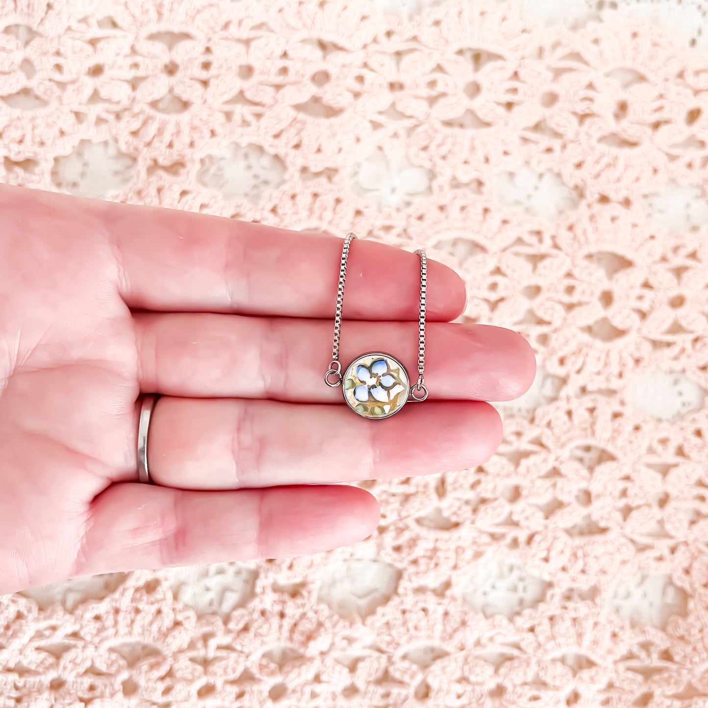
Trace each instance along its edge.
<path fill-rule="evenodd" d="M 517 334 L 449 324 L 429 262 L 430 398 L 387 421 L 324 385 L 341 239 L 0 187 L 0 593 L 90 573 L 296 556 L 367 537 L 341 483 L 467 469 L 530 386 Z M 416 370 L 417 256 L 350 254 L 341 360 Z M 137 483 L 139 394 L 156 406 Z"/>

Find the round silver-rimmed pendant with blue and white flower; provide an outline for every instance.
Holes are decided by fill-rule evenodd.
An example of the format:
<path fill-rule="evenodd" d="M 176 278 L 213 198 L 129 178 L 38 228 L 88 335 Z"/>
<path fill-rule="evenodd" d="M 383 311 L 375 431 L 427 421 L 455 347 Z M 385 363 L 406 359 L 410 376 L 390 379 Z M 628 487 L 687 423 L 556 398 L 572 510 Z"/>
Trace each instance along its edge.
<path fill-rule="evenodd" d="M 388 354 L 362 354 L 346 368 L 344 400 L 363 418 L 377 421 L 398 413 L 408 400 L 411 382 L 406 367 Z"/>

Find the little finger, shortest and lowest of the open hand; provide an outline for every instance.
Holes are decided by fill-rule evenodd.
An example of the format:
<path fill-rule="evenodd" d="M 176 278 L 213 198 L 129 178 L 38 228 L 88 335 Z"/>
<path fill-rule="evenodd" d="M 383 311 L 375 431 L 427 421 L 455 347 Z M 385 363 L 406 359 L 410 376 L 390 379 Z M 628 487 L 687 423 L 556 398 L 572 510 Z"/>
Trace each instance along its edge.
<path fill-rule="evenodd" d="M 115 484 L 93 502 L 75 574 L 312 554 L 360 541 L 378 523 L 376 500 L 355 487 Z"/>

